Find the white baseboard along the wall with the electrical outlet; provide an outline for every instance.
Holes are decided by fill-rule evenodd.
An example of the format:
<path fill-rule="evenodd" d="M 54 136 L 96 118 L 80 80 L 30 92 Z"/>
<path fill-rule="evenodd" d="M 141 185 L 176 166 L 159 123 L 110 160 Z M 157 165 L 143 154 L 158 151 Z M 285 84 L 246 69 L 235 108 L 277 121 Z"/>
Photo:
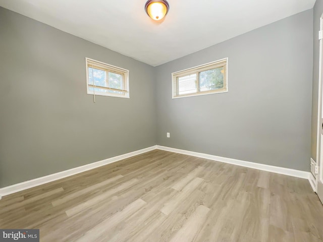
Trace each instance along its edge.
<path fill-rule="evenodd" d="M 203 153 L 198 153 L 198 152 L 193 152 L 193 151 L 188 151 L 188 150 L 180 150 L 180 149 L 175 149 L 175 148 L 170 148 L 170 147 L 165 147 L 165 146 L 160 146 L 160 145 L 157 145 L 156 148 L 159 150 L 166 150 L 166 151 L 171 151 L 171 152 L 175 152 L 175 153 L 191 155 L 191 156 L 196 156 L 196 157 L 205 158 L 205 159 L 209 159 L 209 160 L 215 160 L 215 161 L 220 161 L 220 162 L 224 162 L 224 163 L 229 163 L 229 164 L 233 164 L 233 165 L 240 165 L 240 166 L 249 167 L 249 168 L 253 168 L 253 169 L 265 170 L 265 171 L 270 171 L 270 172 L 279 173 L 279 174 L 283 174 L 283 175 L 300 177 L 300 178 L 304 178 L 304 179 L 309 179 L 309 175 L 310 175 L 310 172 L 307 172 L 307 171 L 294 170 L 294 169 L 290 169 L 290 168 L 284 168 L 284 167 L 273 166 L 273 165 L 259 164 L 259 163 L 254 163 L 254 162 L 250 162 L 250 161 L 231 159 L 231 158 L 203 154 Z"/>

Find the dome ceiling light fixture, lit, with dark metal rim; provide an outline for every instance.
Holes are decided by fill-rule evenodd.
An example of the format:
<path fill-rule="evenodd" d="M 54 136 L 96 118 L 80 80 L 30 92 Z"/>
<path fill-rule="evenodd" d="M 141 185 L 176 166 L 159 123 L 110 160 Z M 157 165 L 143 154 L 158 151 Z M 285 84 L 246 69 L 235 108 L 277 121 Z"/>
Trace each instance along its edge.
<path fill-rule="evenodd" d="M 160 20 L 167 15 L 170 5 L 166 0 L 148 0 L 145 4 L 145 11 L 153 20 Z"/>

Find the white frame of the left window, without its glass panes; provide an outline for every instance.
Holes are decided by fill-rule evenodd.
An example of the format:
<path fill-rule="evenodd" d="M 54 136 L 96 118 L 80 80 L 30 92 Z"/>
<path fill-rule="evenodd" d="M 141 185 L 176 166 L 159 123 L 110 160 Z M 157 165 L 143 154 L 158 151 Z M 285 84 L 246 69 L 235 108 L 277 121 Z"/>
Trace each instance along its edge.
<path fill-rule="evenodd" d="M 95 92 L 89 90 L 89 71 L 88 71 L 88 61 L 96 62 L 102 66 L 105 66 L 107 70 L 112 70 L 111 72 L 114 72 L 113 70 L 116 70 L 118 73 L 122 73 L 124 75 L 124 84 L 125 84 L 125 92 L 124 94 L 118 94 L 118 93 L 102 93 L 102 92 Z M 110 64 L 106 64 L 104 62 L 99 62 L 96 61 L 95 59 L 91 59 L 86 57 L 85 58 L 85 67 L 86 67 L 86 93 L 89 95 L 94 95 L 94 96 L 110 96 L 110 97 L 122 97 L 122 98 L 130 98 L 130 88 L 129 88 L 129 70 L 116 67 Z M 95 66 L 93 66 L 95 67 Z M 117 90 L 117 89 L 116 89 Z"/>

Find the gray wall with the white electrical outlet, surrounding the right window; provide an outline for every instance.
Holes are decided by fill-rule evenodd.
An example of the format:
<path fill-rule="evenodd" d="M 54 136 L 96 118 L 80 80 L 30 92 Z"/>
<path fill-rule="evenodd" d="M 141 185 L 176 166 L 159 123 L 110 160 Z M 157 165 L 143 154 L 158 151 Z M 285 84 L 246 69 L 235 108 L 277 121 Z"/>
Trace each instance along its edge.
<path fill-rule="evenodd" d="M 157 67 L 157 144 L 308 171 L 312 27 L 308 10 Z M 229 92 L 171 98 L 172 72 L 224 57 Z"/>

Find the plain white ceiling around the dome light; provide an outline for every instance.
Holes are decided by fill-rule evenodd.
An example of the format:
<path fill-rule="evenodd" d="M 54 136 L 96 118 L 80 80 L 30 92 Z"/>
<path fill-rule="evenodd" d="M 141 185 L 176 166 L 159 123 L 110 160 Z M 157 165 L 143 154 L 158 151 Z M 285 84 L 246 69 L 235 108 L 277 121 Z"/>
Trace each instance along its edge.
<path fill-rule="evenodd" d="M 0 6 L 158 66 L 313 8 L 315 0 L 168 0 L 161 21 L 146 0 L 0 0 Z"/>

